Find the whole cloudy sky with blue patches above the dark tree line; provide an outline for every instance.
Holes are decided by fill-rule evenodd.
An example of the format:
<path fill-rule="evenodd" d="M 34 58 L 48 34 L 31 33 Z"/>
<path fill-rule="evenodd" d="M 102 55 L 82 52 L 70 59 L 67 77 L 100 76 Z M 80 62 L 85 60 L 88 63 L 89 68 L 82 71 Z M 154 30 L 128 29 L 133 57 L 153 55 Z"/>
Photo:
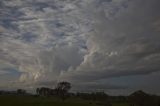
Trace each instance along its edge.
<path fill-rule="evenodd" d="M 160 94 L 159 0 L 0 0 L 0 89 Z"/>

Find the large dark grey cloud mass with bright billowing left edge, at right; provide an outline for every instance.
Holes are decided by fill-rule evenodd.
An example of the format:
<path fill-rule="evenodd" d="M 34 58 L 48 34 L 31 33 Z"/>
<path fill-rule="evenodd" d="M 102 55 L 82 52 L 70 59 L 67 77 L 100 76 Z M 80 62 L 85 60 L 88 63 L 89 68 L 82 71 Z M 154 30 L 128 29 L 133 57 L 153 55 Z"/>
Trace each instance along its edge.
<path fill-rule="evenodd" d="M 100 21 L 88 43 L 90 54 L 86 61 L 77 71 L 62 74 L 62 78 L 96 81 L 158 72 L 160 38 L 159 32 L 152 29 L 160 15 L 155 12 L 158 8 L 156 3 L 156 0 L 129 2 L 126 10 L 120 8 L 109 21 L 104 14 L 99 16 Z"/>

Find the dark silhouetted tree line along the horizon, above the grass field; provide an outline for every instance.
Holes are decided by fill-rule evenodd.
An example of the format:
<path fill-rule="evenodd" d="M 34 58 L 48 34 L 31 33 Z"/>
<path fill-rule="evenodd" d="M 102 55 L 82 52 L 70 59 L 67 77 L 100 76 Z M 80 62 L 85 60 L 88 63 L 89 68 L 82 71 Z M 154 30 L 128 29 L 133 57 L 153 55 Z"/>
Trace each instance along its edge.
<path fill-rule="evenodd" d="M 0 95 L 31 95 L 36 97 L 59 97 L 61 100 L 67 98 L 80 98 L 84 100 L 90 100 L 97 102 L 98 105 L 112 106 L 111 102 L 122 102 L 128 103 L 130 106 L 160 106 L 160 96 L 151 95 L 145 93 L 142 90 L 136 91 L 129 96 L 110 96 L 105 92 L 92 92 L 92 93 L 71 93 L 71 83 L 59 82 L 54 89 L 41 87 L 36 89 L 36 95 L 27 93 L 23 89 L 17 91 L 0 91 Z"/>

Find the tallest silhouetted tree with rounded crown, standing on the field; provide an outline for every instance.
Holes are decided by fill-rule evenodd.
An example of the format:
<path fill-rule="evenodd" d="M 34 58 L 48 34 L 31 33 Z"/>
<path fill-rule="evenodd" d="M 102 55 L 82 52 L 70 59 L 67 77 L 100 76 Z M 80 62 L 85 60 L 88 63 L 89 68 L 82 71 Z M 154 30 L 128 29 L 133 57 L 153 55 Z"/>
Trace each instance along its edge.
<path fill-rule="evenodd" d="M 57 95 L 64 101 L 67 97 L 68 91 L 71 89 L 69 82 L 59 82 L 55 88 Z"/>

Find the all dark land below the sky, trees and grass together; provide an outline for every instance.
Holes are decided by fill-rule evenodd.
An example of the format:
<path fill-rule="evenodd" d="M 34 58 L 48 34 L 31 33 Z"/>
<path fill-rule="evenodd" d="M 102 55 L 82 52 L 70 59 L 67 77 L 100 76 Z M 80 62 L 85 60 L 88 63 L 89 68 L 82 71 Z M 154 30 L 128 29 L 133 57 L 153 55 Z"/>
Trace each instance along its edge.
<path fill-rule="evenodd" d="M 105 92 L 70 93 L 71 84 L 60 82 L 54 89 L 41 87 L 36 95 L 23 89 L 0 91 L 2 106 L 160 106 L 160 97 L 143 91 L 130 96 L 109 96 Z"/>

